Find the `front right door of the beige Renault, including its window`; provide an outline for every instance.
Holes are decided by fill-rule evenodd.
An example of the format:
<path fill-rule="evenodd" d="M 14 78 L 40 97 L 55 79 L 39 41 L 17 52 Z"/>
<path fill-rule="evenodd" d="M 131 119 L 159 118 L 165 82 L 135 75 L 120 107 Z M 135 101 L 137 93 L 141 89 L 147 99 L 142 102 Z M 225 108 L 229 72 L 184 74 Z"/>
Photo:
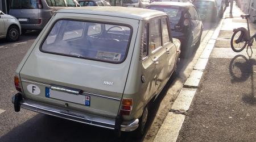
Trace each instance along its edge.
<path fill-rule="evenodd" d="M 170 40 L 171 32 L 169 30 L 168 26 L 168 20 L 167 17 L 161 18 L 161 27 L 162 27 L 162 41 L 163 41 L 163 48 L 166 49 L 166 54 L 168 57 L 168 64 L 167 65 L 167 73 L 168 77 L 171 76 L 171 73 L 174 71 L 175 68 L 175 62 L 176 62 L 176 46 L 174 43 L 172 43 L 172 40 Z M 168 79 L 167 77 L 167 79 Z"/>

